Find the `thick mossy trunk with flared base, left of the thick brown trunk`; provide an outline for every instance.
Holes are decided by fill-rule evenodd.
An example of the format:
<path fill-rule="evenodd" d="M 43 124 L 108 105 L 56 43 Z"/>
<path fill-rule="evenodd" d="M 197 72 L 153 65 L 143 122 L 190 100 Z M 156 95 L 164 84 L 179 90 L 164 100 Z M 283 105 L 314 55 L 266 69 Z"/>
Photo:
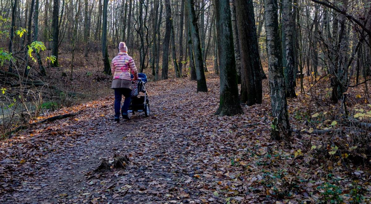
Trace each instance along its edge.
<path fill-rule="evenodd" d="M 218 50 L 220 57 L 220 102 L 216 115 L 243 113 L 237 88 L 236 58 L 234 57 L 232 22 L 229 0 L 215 0 Z"/>

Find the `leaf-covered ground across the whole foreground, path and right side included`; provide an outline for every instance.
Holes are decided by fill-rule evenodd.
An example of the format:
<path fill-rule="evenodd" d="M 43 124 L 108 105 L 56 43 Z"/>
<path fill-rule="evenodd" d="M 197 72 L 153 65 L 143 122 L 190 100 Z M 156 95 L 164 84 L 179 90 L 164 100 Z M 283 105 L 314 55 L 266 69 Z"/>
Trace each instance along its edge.
<path fill-rule="evenodd" d="M 323 136 L 293 135 L 290 144 L 270 139 L 263 84 L 263 103 L 243 106 L 237 116 L 213 114 L 214 74 L 207 75 L 207 93 L 196 93 L 196 82 L 186 78 L 149 82 L 148 118 L 138 113 L 114 123 L 113 96 L 53 112 L 83 110 L 0 141 L 0 203 L 349 203 L 357 195 L 370 201 L 368 168 L 346 169 L 331 155 L 324 160 L 316 149 Z M 321 110 L 304 94 L 288 105 L 299 129 L 307 126 L 295 111 Z M 322 109 L 328 107 L 336 109 Z M 114 154 L 127 155 L 130 165 L 92 172 Z"/>

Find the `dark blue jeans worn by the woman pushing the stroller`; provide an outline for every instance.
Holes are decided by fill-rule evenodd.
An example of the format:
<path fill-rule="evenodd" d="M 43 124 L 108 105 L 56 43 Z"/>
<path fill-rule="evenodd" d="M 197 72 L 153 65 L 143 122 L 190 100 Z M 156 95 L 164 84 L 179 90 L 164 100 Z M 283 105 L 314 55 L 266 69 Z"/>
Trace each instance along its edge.
<path fill-rule="evenodd" d="M 115 90 L 115 118 L 120 118 L 120 106 L 122 95 L 125 96 L 124 104 L 121 106 L 122 115 L 128 115 L 128 108 L 131 99 L 131 89 L 127 88 L 117 88 Z"/>

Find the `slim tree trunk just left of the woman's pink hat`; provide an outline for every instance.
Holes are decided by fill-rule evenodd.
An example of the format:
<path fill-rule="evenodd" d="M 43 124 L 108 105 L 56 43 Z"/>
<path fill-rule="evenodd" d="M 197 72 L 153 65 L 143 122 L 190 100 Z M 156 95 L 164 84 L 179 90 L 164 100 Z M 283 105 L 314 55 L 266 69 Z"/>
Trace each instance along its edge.
<path fill-rule="evenodd" d="M 107 6 L 108 6 L 108 0 L 103 0 L 102 56 L 103 56 L 103 64 L 104 64 L 104 73 L 106 75 L 111 75 L 111 65 L 109 64 L 108 50 L 107 50 Z"/>

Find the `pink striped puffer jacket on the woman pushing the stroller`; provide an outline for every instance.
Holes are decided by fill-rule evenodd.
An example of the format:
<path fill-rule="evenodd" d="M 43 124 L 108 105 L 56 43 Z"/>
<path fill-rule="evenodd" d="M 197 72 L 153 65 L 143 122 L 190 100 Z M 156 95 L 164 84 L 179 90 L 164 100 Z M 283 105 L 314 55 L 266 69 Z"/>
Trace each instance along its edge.
<path fill-rule="evenodd" d="M 138 71 L 134 60 L 128 53 L 121 51 L 111 63 L 111 72 L 114 79 L 131 80 L 130 73 L 134 75 L 134 80 L 138 80 Z"/>

